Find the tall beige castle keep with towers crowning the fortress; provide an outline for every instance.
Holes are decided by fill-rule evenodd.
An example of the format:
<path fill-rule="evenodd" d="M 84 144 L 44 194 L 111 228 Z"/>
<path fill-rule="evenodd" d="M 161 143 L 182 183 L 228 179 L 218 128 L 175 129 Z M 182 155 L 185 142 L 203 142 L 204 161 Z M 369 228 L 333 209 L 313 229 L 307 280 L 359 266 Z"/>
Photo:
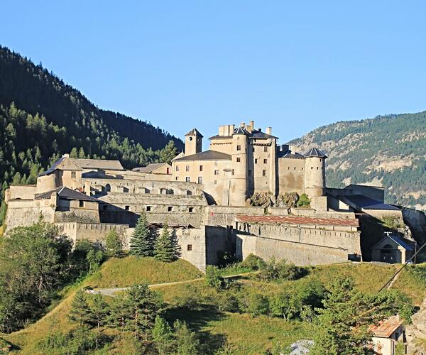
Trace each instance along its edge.
<path fill-rule="evenodd" d="M 263 132 L 254 121 L 219 126 L 208 151 L 202 151 L 202 138 L 197 129 L 185 135 L 185 152 L 173 160 L 173 180 L 197 182 L 212 204 L 244 206 L 256 192 L 324 196 L 327 156 L 317 148 L 300 154 L 277 146 L 271 127 Z"/>

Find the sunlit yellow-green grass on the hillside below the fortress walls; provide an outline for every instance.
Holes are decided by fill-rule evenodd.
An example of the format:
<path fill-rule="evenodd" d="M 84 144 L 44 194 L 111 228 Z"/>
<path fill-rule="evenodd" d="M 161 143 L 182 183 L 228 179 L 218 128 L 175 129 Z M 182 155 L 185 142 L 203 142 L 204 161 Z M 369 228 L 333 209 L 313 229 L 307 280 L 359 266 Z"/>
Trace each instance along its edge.
<path fill-rule="evenodd" d="M 310 278 L 320 278 L 324 283 L 342 276 L 354 278 L 356 287 L 364 292 L 376 292 L 383 283 L 398 269 L 398 266 L 378 266 L 368 263 L 345 263 L 332 266 L 317 266 L 310 268 L 310 274 L 297 281 L 283 283 L 262 283 L 256 280 L 246 280 L 249 293 L 263 293 L 274 295 L 285 288 L 294 288 L 297 283 L 305 282 Z M 190 280 L 200 275 L 193 266 L 185 261 L 171 264 L 158 263 L 151 258 L 136 259 L 127 257 L 111 259 L 104 263 L 98 273 L 87 278 L 82 285 L 97 285 L 99 287 L 114 287 L 129 285 L 134 282 L 161 283 L 165 281 Z M 122 280 L 119 282 L 119 280 Z M 419 285 L 408 271 L 403 271 L 394 284 L 394 288 L 414 296 L 418 303 L 426 296 L 426 285 Z M 48 334 L 49 329 L 71 329 L 73 325 L 67 320 L 67 312 L 76 288 L 65 293 L 62 302 L 54 307 L 48 315 L 32 324 L 27 329 L 7 336 L 6 339 L 13 344 L 21 346 L 23 353 L 36 354 L 35 344 L 39 339 Z M 216 291 L 204 285 L 204 282 L 162 286 L 157 290 L 163 295 L 165 302 L 173 305 L 179 298 L 190 294 L 215 297 Z M 191 310 L 187 312 L 172 306 L 167 315 L 170 321 L 175 319 L 186 320 L 190 327 L 197 331 L 202 343 L 209 352 L 221 348 L 226 343 L 226 349 L 232 354 L 262 354 L 266 349 L 272 349 L 273 344 L 280 342 L 283 346 L 291 344 L 297 339 L 310 337 L 307 325 L 302 322 L 285 320 L 276 317 L 256 317 L 237 313 L 219 313 L 215 310 Z M 123 342 L 123 341 L 121 341 Z M 113 345 L 114 349 L 129 344 Z M 129 345 L 130 346 L 130 345 Z"/>

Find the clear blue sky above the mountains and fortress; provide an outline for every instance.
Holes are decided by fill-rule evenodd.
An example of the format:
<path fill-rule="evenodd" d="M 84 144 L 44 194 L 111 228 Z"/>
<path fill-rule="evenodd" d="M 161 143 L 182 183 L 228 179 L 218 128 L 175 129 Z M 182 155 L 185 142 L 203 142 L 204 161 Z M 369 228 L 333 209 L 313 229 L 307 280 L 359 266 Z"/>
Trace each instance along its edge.
<path fill-rule="evenodd" d="M 350 3 L 350 4 L 349 4 Z M 426 1 L 1 0 L 0 43 L 176 136 L 426 109 Z"/>

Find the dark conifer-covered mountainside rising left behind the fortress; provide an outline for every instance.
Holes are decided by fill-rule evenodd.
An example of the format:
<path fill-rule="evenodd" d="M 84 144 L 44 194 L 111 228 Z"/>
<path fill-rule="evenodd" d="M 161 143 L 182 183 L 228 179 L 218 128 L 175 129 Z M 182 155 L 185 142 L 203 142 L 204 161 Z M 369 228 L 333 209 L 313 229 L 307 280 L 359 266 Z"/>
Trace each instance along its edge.
<path fill-rule="evenodd" d="M 64 153 L 118 159 L 130 169 L 168 161 L 182 147 L 159 127 L 99 109 L 42 65 L 0 46 L 2 200 L 8 185 L 35 183 Z"/>

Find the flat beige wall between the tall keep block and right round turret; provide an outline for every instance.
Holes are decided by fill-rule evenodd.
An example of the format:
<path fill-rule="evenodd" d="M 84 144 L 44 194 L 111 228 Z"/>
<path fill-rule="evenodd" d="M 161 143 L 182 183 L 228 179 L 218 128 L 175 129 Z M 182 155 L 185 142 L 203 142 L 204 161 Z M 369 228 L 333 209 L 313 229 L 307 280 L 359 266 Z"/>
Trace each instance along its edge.
<path fill-rule="evenodd" d="M 278 159 L 279 193 L 305 192 L 305 159 Z"/>

